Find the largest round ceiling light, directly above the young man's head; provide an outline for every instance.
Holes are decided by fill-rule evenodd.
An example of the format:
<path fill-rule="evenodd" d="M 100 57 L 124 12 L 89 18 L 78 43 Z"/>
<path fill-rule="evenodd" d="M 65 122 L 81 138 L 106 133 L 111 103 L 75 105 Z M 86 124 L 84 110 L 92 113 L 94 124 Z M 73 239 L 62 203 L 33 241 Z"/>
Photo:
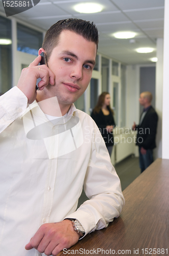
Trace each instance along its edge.
<path fill-rule="evenodd" d="M 81 3 L 74 6 L 74 10 L 80 13 L 95 13 L 101 12 L 103 6 L 96 3 Z"/>

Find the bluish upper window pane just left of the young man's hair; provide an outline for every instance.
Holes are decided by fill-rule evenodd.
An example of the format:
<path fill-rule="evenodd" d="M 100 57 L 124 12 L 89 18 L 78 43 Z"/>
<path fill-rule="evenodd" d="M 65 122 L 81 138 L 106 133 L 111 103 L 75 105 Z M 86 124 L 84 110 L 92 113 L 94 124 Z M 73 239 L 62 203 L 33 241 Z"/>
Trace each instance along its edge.
<path fill-rule="evenodd" d="M 42 47 L 43 34 L 17 23 L 17 50 L 38 55 Z"/>

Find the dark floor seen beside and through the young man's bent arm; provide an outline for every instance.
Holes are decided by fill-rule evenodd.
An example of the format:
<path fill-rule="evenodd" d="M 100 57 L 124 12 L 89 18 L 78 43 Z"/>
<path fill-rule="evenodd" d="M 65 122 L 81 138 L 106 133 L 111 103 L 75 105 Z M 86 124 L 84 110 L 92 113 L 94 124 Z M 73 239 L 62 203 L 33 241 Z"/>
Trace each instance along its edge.
<path fill-rule="evenodd" d="M 122 191 L 140 174 L 138 157 L 129 156 L 115 165 L 116 172 L 121 180 Z M 88 200 L 84 190 L 79 198 L 78 207 Z"/>

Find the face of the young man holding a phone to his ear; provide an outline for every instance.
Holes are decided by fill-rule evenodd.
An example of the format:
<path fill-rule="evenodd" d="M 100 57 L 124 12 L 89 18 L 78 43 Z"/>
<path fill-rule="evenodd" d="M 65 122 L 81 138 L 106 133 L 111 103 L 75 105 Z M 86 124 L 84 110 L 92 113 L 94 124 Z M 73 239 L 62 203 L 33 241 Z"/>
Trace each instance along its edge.
<path fill-rule="evenodd" d="M 95 42 L 72 31 L 62 31 L 48 60 L 48 67 L 55 75 L 55 84 L 49 90 L 52 96 L 57 96 L 60 107 L 73 103 L 85 92 L 95 58 Z"/>

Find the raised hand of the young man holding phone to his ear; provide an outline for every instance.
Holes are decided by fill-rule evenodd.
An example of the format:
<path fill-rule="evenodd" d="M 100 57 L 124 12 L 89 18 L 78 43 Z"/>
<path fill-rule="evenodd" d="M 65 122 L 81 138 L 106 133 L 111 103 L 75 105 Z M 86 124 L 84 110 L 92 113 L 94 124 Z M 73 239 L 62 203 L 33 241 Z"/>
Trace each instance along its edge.
<path fill-rule="evenodd" d="M 41 61 L 41 56 L 39 55 L 28 68 L 22 70 L 17 87 L 24 93 L 27 97 L 27 103 L 32 103 L 36 99 L 36 82 L 38 78 L 41 81 L 38 83 L 39 90 L 42 91 L 50 83 L 54 85 L 54 74 L 46 66 L 38 66 Z"/>

